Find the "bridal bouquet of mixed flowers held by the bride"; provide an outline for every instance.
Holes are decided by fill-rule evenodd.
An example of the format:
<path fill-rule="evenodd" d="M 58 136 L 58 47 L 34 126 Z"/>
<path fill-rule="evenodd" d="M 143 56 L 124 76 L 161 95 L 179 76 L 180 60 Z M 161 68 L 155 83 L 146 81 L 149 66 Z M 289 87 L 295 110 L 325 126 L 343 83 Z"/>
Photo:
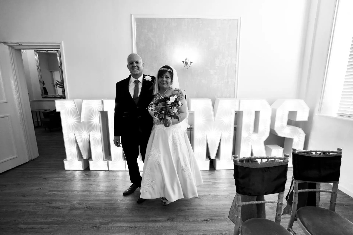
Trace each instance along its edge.
<path fill-rule="evenodd" d="M 148 109 L 154 111 L 154 116 L 160 121 L 167 119 L 177 119 L 179 121 L 179 114 L 177 107 L 181 107 L 183 104 L 177 101 L 177 95 L 168 96 L 157 93 L 155 96 L 156 100 L 148 106 Z"/>

